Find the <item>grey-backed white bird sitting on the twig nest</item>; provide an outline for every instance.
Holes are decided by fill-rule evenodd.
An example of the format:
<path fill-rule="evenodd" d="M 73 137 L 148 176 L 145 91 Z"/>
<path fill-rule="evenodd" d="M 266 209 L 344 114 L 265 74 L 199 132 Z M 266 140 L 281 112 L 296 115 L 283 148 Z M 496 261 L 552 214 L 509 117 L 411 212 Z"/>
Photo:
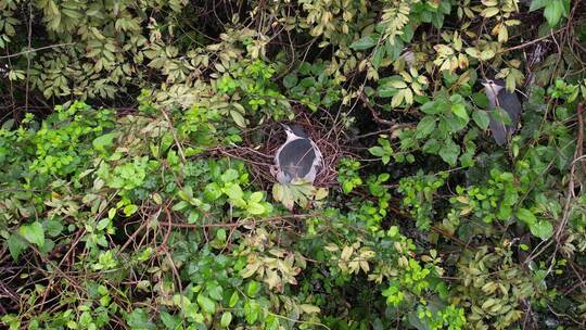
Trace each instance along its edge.
<path fill-rule="evenodd" d="M 281 185 L 303 179 L 314 185 L 323 157 L 317 144 L 300 125 L 285 125 L 286 140 L 275 154 L 276 178 Z"/>

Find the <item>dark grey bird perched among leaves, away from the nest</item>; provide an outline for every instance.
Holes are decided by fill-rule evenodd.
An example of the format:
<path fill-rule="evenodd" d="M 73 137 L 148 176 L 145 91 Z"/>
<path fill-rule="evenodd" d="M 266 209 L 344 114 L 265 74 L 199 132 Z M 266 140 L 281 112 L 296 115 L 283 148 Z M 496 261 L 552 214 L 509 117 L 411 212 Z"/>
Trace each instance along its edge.
<path fill-rule="evenodd" d="M 482 81 L 482 85 L 484 86 L 484 93 L 488 98 L 488 110 L 496 110 L 498 116 L 495 116 L 495 112 L 488 114 L 491 131 L 497 144 L 502 145 L 509 141 L 517 128 L 521 116 L 521 101 L 515 93 L 506 90 L 505 81 L 501 79 L 486 79 Z M 505 124 L 500 109 L 508 114 L 511 119 L 510 125 Z"/>

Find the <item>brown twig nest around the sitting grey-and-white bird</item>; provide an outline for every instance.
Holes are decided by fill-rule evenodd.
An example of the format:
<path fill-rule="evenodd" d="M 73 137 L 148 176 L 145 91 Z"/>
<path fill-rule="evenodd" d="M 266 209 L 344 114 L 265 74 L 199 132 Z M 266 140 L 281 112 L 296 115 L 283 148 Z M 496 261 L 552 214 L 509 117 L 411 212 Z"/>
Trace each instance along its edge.
<path fill-rule="evenodd" d="M 314 186 L 331 188 L 337 185 L 337 162 L 345 154 L 340 144 L 341 131 L 332 124 L 328 126 L 311 118 L 303 109 L 296 109 L 295 119 L 283 124 L 302 126 L 309 138 L 317 144 L 323 156 L 323 167 L 317 174 Z M 328 120 L 330 122 L 330 120 Z M 333 122 L 333 119 L 332 119 Z M 225 155 L 235 157 L 249 164 L 254 182 L 268 190 L 277 179 L 271 174 L 275 165 L 275 154 L 281 147 L 286 135 L 278 123 L 267 123 L 243 131 L 242 145 L 229 150 L 220 150 Z"/>

